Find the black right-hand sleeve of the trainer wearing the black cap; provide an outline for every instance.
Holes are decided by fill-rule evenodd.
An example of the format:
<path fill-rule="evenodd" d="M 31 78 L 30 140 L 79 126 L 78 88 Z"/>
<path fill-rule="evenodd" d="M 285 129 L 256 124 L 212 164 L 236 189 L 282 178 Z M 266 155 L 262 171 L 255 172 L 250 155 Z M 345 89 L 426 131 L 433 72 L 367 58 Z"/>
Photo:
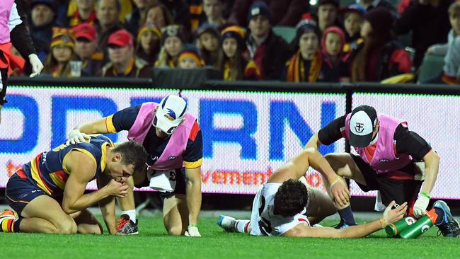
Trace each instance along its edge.
<path fill-rule="evenodd" d="M 422 160 L 423 156 L 431 150 L 430 144 L 425 139 L 417 133 L 409 131 L 407 127 L 401 124 L 394 132 L 394 139 L 396 141 L 396 153 L 409 154 L 417 160 Z"/>

